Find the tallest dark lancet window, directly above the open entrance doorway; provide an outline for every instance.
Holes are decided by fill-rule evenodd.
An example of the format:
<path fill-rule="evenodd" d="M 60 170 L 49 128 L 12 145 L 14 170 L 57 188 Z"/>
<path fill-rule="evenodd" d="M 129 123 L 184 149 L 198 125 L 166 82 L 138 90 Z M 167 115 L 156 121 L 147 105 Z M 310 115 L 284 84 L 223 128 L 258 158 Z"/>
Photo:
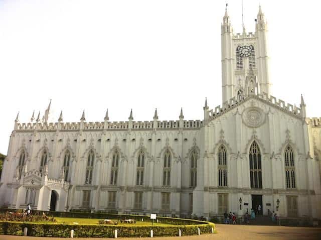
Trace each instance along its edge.
<path fill-rule="evenodd" d="M 255 141 L 250 147 L 249 159 L 251 188 L 262 188 L 261 152 Z"/>

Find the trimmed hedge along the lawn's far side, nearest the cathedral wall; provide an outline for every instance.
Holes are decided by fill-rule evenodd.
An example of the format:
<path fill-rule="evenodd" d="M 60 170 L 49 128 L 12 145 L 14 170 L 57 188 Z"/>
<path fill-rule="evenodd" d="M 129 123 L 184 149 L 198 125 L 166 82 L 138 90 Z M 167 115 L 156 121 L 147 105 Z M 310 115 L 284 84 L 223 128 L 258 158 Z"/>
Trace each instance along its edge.
<path fill-rule="evenodd" d="M 6 211 L 17 211 L 17 209 L 4 209 L 1 208 L 0 212 Z M 102 218 L 102 219 L 135 219 L 136 221 L 140 221 L 143 218 L 146 222 L 151 222 L 150 217 L 146 215 L 131 215 L 131 214 L 114 214 L 114 213 L 89 213 L 89 212 L 57 212 L 57 211 L 41 211 L 41 210 L 32 210 L 33 213 L 46 213 L 47 216 L 54 217 L 75 217 L 75 218 Z M 195 219 L 182 219 L 175 217 L 161 217 L 157 216 L 159 223 L 166 223 L 172 225 L 194 225 L 194 224 L 206 224 L 206 221 L 195 220 Z"/>

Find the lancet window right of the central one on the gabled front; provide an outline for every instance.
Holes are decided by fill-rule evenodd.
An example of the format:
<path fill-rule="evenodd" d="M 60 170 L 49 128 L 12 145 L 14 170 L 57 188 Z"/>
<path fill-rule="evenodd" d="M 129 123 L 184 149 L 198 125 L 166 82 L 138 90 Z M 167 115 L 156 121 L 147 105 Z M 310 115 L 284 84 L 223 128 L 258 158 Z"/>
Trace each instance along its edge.
<path fill-rule="evenodd" d="M 290 146 L 287 146 L 285 148 L 284 162 L 285 162 L 286 188 L 295 188 L 294 155 L 293 155 L 293 150 Z"/>

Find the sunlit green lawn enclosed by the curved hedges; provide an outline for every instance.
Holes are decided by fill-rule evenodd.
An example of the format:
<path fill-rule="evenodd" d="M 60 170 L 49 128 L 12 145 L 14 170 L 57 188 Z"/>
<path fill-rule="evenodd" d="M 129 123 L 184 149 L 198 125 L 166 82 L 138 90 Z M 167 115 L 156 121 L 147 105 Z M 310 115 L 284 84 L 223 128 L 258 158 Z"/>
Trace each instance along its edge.
<path fill-rule="evenodd" d="M 103 220 L 103 218 L 73 218 L 73 217 L 55 217 L 57 223 L 74 223 L 78 222 L 79 224 L 98 224 L 99 220 Z M 114 219 L 110 219 L 114 220 Z M 115 219 L 116 221 L 116 219 Z M 146 221 L 136 221 L 136 223 L 118 223 L 121 226 L 150 226 L 151 222 Z M 153 226 L 174 226 L 172 224 L 165 223 L 153 223 Z"/>

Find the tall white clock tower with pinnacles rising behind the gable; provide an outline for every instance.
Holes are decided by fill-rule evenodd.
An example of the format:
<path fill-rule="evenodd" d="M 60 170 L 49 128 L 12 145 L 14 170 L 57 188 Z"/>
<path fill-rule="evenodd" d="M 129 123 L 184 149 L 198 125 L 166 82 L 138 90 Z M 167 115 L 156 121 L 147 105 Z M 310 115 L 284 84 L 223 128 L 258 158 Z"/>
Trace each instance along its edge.
<path fill-rule="evenodd" d="M 230 18 L 225 9 L 221 26 L 222 43 L 222 99 L 223 103 L 246 92 L 249 73 L 257 78 L 260 93 L 271 94 L 269 82 L 267 24 L 261 6 L 255 20 L 255 33 L 233 33 Z"/>

